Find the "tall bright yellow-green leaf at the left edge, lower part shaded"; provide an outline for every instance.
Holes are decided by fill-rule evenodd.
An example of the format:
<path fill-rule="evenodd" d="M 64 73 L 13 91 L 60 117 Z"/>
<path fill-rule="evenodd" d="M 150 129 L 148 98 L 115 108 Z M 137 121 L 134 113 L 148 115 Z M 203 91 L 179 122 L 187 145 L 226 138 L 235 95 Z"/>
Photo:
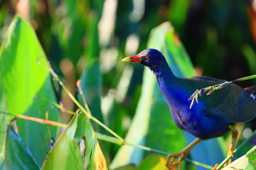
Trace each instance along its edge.
<path fill-rule="evenodd" d="M 33 28 L 16 16 L 6 32 L 0 49 L 0 79 L 6 111 L 37 118 L 58 120 L 58 110 L 51 108 L 55 101 L 46 55 Z M 18 119 L 21 138 L 38 164 L 50 150 L 50 135 L 55 127 Z M 50 135 L 49 135 L 50 132 Z"/>

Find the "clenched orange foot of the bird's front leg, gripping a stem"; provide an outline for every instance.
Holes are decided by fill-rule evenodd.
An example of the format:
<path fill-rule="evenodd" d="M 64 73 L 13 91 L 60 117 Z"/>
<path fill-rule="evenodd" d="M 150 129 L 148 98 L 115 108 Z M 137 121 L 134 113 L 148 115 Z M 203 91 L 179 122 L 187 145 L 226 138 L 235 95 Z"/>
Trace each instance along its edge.
<path fill-rule="evenodd" d="M 177 158 L 177 157 L 179 157 L 179 158 Z M 184 157 L 186 157 L 186 154 L 184 152 L 179 152 L 176 154 L 169 154 L 167 157 L 167 161 L 166 161 L 166 167 L 169 170 L 181 170 L 181 161 Z M 171 162 L 169 161 L 170 159 L 171 159 Z M 178 161 L 175 162 L 176 159 L 178 159 Z M 176 169 L 176 167 L 175 167 L 177 165 L 178 165 L 178 169 Z"/>

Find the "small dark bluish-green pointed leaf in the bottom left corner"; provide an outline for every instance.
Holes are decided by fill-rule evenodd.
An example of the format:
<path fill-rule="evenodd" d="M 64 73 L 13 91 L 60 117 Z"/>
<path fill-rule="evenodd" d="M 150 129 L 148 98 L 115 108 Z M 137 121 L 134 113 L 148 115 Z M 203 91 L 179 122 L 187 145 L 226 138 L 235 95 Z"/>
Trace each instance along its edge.
<path fill-rule="evenodd" d="M 40 169 L 21 137 L 10 126 L 7 129 L 5 149 L 6 169 Z"/>

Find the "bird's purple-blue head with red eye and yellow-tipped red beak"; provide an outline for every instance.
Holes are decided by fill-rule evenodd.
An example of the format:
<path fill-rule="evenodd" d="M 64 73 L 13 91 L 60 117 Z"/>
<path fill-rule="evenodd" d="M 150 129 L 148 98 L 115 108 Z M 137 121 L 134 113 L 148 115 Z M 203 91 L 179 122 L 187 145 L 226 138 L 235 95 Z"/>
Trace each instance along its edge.
<path fill-rule="evenodd" d="M 151 48 L 139 52 L 138 55 L 126 57 L 122 60 L 122 62 L 137 62 L 144 64 L 153 71 L 156 71 L 156 69 L 161 68 L 163 64 L 166 64 L 164 55 L 162 55 L 159 50 Z"/>

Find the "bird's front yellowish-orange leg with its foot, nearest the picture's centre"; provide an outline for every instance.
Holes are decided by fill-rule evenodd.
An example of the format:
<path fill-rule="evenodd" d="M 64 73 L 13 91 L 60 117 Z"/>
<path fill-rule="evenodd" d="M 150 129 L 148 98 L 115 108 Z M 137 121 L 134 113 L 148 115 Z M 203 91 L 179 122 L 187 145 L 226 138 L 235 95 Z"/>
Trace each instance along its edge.
<path fill-rule="evenodd" d="M 196 140 L 194 140 L 193 142 L 191 142 L 188 146 L 186 146 L 184 149 L 182 149 L 181 152 L 176 153 L 176 154 L 169 154 L 166 160 L 166 167 L 169 170 L 176 170 L 175 166 L 178 165 L 178 170 L 181 170 L 181 161 L 184 157 L 186 157 L 188 155 L 188 153 L 191 151 L 191 149 L 197 145 L 199 142 L 201 142 L 201 139 L 196 138 Z M 175 159 L 178 158 L 177 162 L 174 162 Z M 171 159 L 172 158 L 172 159 Z M 171 159 L 171 162 L 169 164 L 169 160 Z"/>

